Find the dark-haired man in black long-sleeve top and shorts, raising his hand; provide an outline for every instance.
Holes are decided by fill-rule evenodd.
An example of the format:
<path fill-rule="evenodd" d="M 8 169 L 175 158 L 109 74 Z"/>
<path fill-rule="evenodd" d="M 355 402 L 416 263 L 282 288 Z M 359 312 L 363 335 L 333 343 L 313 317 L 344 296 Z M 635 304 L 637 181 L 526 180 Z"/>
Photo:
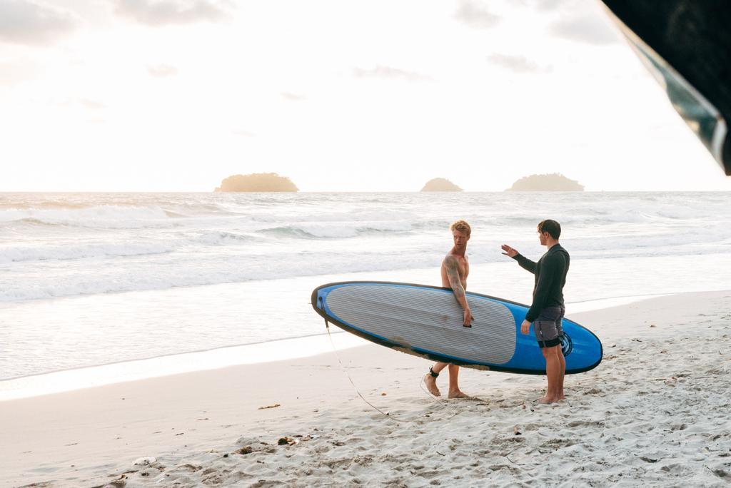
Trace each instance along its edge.
<path fill-rule="evenodd" d="M 532 262 L 521 255 L 510 245 L 502 245 L 503 254 L 518 261 L 520 267 L 535 275 L 533 303 L 526 313 L 526 319 L 520 325 L 520 332 L 528 334 L 531 323 L 538 340 L 543 357 L 546 359 L 546 375 L 548 389 L 541 403 L 553 403 L 564 400 L 564 374 L 566 359 L 561 351 L 561 336 L 564 319 L 564 285 L 569 272 L 569 253 L 558 243 L 561 237 L 561 224 L 545 220 L 538 224 L 538 235 L 541 245 L 548 251 L 538 260 Z"/>

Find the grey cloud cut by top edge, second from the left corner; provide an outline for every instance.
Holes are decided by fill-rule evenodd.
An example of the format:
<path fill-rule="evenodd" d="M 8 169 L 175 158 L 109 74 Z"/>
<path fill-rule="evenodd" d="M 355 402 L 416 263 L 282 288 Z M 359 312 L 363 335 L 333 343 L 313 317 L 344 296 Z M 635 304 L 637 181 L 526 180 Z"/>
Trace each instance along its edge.
<path fill-rule="evenodd" d="M 230 15 L 230 0 L 116 0 L 117 13 L 148 26 L 219 22 Z"/>

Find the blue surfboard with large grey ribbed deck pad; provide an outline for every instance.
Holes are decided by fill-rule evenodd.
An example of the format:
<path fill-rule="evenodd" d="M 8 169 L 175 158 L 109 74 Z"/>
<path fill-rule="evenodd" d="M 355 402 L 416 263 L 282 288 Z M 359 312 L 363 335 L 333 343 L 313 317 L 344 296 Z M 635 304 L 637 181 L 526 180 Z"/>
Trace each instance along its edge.
<path fill-rule="evenodd" d="M 331 324 L 406 354 L 480 370 L 545 374 L 545 359 L 531 333 L 520 333 L 529 306 L 466 294 L 474 321 L 463 327 L 463 312 L 452 290 L 390 281 L 327 283 L 312 291 L 314 310 Z M 602 343 L 586 327 L 563 321 L 561 350 L 566 373 L 583 373 L 602 362 Z"/>

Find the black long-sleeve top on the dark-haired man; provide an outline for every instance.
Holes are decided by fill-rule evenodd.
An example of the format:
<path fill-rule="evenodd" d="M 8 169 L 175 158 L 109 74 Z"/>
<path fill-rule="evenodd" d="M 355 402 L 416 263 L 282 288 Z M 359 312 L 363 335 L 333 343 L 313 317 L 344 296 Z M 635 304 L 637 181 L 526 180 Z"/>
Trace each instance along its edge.
<path fill-rule="evenodd" d="M 546 307 L 564 305 L 564 285 L 571 258 L 561 244 L 554 244 L 537 263 L 520 253 L 513 259 L 535 275 L 533 303 L 526 314 L 527 321 L 537 319 Z"/>

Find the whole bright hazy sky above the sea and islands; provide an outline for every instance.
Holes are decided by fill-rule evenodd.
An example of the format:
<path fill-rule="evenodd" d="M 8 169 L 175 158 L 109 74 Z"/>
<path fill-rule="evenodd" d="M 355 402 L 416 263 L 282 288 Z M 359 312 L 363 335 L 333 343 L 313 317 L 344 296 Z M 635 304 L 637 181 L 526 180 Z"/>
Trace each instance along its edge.
<path fill-rule="evenodd" d="M 0 141 L 0 191 L 731 190 L 586 0 L 0 0 Z"/>

